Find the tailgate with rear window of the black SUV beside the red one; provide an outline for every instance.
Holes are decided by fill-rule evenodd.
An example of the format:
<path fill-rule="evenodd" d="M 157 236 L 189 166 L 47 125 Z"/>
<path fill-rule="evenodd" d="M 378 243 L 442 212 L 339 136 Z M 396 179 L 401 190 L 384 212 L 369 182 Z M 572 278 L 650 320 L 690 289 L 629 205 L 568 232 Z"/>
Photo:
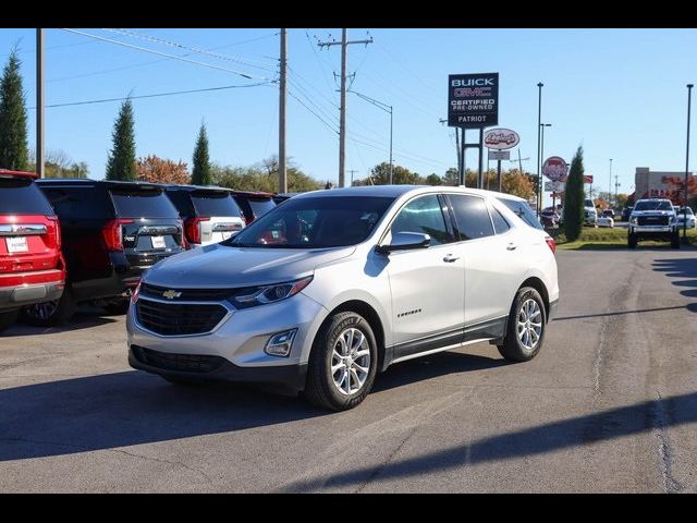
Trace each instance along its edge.
<path fill-rule="evenodd" d="M 146 268 L 182 252 L 182 219 L 160 187 L 110 187 L 109 193 L 132 266 Z"/>

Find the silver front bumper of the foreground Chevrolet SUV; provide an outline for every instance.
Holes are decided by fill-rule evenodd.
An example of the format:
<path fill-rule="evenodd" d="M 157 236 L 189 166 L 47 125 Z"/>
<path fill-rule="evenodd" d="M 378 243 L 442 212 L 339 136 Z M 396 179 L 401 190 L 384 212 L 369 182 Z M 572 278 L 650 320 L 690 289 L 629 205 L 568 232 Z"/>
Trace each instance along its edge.
<path fill-rule="evenodd" d="M 215 303 L 215 302 L 212 302 Z M 328 311 L 302 292 L 295 296 L 268 305 L 246 309 L 227 306 L 230 314 L 210 332 L 187 336 L 161 336 L 144 328 L 131 306 L 126 316 L 129 332 L 129 363 L 163 376 L 185 376 L 204 380 L 228 380 L 260 384 L 282 384 L 302 390 L 305 368 L 315 335 Z M 269 338 L 278 332 L 297 329 L 288 357 L 271 356 L 264 352 Z M 151 365 L 133 355 L 134 348 L 166 355 L 213 356 L 224 360 L 216 370 L 179 374 L 167 365 Z M 138 349 L 136 349 L 137 353 Z M 173 374 L 174 373 L 174 374 Z M 299 384 L 299 385 L 298 385 Z"/>

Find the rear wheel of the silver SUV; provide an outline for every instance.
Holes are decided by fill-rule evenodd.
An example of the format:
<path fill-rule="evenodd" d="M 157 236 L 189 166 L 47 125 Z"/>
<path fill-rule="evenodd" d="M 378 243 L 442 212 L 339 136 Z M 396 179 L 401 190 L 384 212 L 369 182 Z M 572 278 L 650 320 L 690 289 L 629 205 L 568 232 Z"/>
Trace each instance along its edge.
<path fill-rule="evenodd" d="M 503 344 L 498 345 L 503 357 L 512 362 L 533 360 L 545 341 L 547 314 L 545 302 L 531 287 L 522 288 L 513 300 Z"/>

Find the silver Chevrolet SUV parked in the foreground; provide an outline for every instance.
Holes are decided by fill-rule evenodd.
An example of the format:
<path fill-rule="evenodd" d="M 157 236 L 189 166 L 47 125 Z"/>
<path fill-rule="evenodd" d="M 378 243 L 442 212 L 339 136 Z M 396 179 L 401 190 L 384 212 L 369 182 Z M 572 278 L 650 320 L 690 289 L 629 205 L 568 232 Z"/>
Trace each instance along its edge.
<path fill-rule="evenodd" d="M 531 360 L 559 299 L 554 242 L 497 195 L 295 196 L 231 240 L 154 266 L 129 311 L 129 362 L 174 384 L 265 384 L 345 410 L 413 357 L 489 341 Z"/>

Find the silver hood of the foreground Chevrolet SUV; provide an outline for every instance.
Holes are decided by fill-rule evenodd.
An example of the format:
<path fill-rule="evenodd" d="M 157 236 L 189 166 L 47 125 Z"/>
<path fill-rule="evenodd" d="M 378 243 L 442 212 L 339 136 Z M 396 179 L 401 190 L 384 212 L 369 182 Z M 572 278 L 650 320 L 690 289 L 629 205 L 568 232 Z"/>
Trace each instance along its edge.
<path fill-rule="evenodd" d="M 320 265 L 350 256 L 355 248 L 248 248 L 215 244 L 166 258 L 152 266 L 143 280 L 174 289 L 277 283 L 311 273 Z"/>

